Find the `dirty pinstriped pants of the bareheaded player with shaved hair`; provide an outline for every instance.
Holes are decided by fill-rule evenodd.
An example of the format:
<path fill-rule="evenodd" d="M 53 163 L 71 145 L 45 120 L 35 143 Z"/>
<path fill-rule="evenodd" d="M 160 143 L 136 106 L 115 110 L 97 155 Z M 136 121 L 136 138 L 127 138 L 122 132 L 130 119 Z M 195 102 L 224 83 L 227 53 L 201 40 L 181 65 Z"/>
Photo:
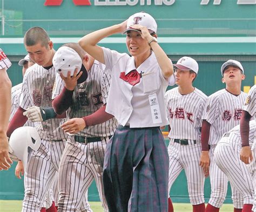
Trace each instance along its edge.
<path fill-rule="evenodd" d="M 42 140 L 38 151 L 31 150 L 26 166 L 22 211 L 40 211 L 58 165 L 65 142 Z"/>

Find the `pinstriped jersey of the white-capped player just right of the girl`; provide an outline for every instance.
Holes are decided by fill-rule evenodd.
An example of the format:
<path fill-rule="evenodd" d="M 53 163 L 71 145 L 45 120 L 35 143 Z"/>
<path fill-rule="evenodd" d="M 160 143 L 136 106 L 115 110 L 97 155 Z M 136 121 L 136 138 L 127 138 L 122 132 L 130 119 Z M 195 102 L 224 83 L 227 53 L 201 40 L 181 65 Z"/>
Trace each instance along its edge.
<path fill-rule="evenodd" d="M 206 100 L 207 96 L 197 88 L 187 95 L 181 95 L 178 87 L 165 93 L 171 127 L 169 138 L 200 140 L 201 117 Z"/>

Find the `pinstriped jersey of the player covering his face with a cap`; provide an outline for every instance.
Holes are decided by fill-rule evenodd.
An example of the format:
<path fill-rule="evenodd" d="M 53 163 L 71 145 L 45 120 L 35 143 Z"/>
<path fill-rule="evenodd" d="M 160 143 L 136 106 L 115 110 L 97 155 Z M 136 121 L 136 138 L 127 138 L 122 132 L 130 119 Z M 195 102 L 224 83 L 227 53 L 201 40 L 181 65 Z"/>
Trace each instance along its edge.
<path fill-rule="evenodd" d="M 73 103 L 67 111 L 68 118 L 79 118 L 92 114 L 107 101 L 111 76 L 103 72 L 99 62 L 95 61 L 88 71 L 88 77 L 85 82 L 77 84 L 73 93 Z M 52 98 L 55 98 L 64 88 L 64 81 L 57 74 L 56 82 L 53 89 Z M 77 135 L 85 137 L 106 137 L 111 136 L 117 128 L 115 118 L 110 119 L 102 124 L 88 126 Z"/>

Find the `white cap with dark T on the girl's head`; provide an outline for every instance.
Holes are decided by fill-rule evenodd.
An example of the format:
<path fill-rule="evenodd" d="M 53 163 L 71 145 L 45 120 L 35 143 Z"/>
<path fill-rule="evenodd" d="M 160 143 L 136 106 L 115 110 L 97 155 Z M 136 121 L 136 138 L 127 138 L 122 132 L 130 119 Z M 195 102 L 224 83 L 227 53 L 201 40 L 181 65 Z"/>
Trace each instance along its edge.
<path fill-rule="evenodd" d="M 130 16 L 127 20 L 126 30 L 122 33 L 125 34 L 127 31 L 133 30 L 140 32 L 139 30 L 134 30 L 130 26 L 134 24 L 139 24 L 146 26 L 150 33 L 157 33 L 157 23 L 154 18 L 146 12 L 137 12 Z"/>

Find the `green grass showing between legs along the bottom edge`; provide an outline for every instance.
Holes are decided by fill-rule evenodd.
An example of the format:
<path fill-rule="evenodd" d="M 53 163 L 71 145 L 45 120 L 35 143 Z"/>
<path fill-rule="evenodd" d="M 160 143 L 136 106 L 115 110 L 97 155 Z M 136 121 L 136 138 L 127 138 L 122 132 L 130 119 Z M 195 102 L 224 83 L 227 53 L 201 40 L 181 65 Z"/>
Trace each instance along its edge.
<path fill-rule="evenodd" d="M 93 212 L 102 212 L 103 208 L 100 202 L 90 202 L 91 209 Z M 191 212 L 192 206 L 188 203 L 174 203 L 175 212 Z M 20 200 L 0 200 L 0 211 L 1 212 L 20 212 L 22 209 L 22 201 Z M 220 209 L 221 212 L 232 212 L 232 204 L 224 204 Z"/>

